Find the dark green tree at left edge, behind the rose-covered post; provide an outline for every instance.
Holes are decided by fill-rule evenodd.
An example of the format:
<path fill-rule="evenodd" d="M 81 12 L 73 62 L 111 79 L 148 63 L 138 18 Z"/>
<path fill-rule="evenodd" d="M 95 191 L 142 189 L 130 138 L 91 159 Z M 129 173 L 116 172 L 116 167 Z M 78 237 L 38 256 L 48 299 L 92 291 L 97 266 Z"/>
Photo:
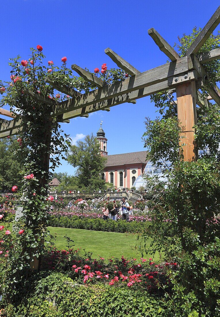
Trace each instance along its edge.
<path fill-rule="evenodd" d="M 22 179 L 19 156 L 14 155 L 18 147 L 15 137 L 0 141 L 0 191 L 11 191 Z"/>

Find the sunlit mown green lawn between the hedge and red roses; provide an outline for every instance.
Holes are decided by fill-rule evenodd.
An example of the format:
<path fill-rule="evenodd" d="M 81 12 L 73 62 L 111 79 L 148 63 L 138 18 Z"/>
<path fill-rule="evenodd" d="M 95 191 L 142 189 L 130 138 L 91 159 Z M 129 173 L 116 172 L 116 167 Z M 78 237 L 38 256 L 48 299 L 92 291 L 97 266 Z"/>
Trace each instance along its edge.
<path fill-rule="evenodd" d="M 12 230 L 10 225 L 9 230 Z M 48 227 L 50 233 L 55 236 L 55 246 L 57 249 L 66 248 L 66 239 L 64 236 L 68 236 L 74 241 L 73 249 L 80 248 L 82 254 L 84 249 L 86 252 L 92 252 L 92 257 L 97 258 L 102 256 L 108 259 L 112 256 L 120 258 L 124 257 L 140 258 L 141 254 L 134 250 L 134 246 L 138 245 L 136 240 L 137 235 L 117 232 L 105 232 L 105 231 L 92 231 L 83 229 L 71 229 L 60 227 Z M 147 243 L 149 245 L 150 241 Z M 132 248 L 133 247 L 133 248 Z M 146 255 L 152 257 L 152 254 Z M 159 260 L 159 253 L 154 256 L 154 261 Z"/>

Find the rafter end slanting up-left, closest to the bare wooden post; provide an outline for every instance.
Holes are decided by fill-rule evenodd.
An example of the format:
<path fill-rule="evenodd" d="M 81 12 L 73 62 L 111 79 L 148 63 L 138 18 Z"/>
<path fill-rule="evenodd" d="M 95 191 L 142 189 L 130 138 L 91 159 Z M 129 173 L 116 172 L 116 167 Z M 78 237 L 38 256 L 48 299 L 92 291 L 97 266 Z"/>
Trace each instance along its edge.
<path fill-rule="evenodd" d="M 148 30 L 149 36 L 152 37 L 154 42 L 159 46 L 159 49 L 165 53 L 171 61 L 176 61 L 179 59 L 179 54 L 170 46 L 170 44 L 165 41 L 165 39 L 154 29 Z"/>

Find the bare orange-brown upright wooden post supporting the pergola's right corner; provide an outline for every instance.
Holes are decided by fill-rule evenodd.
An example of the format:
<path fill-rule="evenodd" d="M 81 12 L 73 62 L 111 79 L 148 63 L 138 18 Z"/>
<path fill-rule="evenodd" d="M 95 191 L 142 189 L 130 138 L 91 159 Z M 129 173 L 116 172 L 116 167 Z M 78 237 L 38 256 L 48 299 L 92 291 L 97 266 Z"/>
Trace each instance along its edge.
<path fill-rule="evenodd" d="M 183 146 L 184 161 L 195 162 L 198 156 L 195 149 L 195 129 L 193 128 L 197 123 L 195 81 L 176 86 L 176 96 L 178 120 L 184 127 L 181 133 L 184 138 L 180 139 L 179 145 L 185 143 Z"/>

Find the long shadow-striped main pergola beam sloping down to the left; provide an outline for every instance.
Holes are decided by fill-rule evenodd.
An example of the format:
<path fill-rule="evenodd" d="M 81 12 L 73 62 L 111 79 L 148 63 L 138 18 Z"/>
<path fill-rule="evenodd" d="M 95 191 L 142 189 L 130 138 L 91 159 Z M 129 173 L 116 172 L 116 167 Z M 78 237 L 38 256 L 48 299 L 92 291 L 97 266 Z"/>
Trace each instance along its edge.
<path fill-rule="evenodd" d="M 182 74 L 183 72 L 187 74 L 188 69 L 189 67 L 187 57 L 179 58 L 179 60 L 177 61 L 166 63 L 159 67 L 150 69 L 146 72 L 126 78 L 124 81 L 118 81 L 111 85 L 106 85 L 102 88 L 98 88 L 97 90 L 90 91 L 89 93 L 83 94 L 81 97 L 76 97 L 70 100 L 62 101 L 59 103 L 59 105 L 53 107 L 53 116 L 66 113 L 88 105 L 93 105 L 97 102 L 114 98 L 122 94 L 127 94 L 135 90 L 141 91 L 141 89 L 144 89 L 148 86 L 152 86 L 152 89 L 148 89 L 148 93 L 146 95 L 154 94 L 155 92 L 169 89 L 169 87 L 167 88 L 167 83 L 164 83 L 164 81 L 167 81 L 167 78 L 171 76 L 178 77 L 178 75 Z M 186 79 L 186 81 L 188 80 L 190 79 Z M 156 87 L 154 86 L 154 84 L 160 82 L 163 82 L 163 84 Z M 137 98 L 140 98 L 138 96 L 136 97 L 136 95 L 134 96 L 135 97 L 129 100 L 135 100 Z"/>

